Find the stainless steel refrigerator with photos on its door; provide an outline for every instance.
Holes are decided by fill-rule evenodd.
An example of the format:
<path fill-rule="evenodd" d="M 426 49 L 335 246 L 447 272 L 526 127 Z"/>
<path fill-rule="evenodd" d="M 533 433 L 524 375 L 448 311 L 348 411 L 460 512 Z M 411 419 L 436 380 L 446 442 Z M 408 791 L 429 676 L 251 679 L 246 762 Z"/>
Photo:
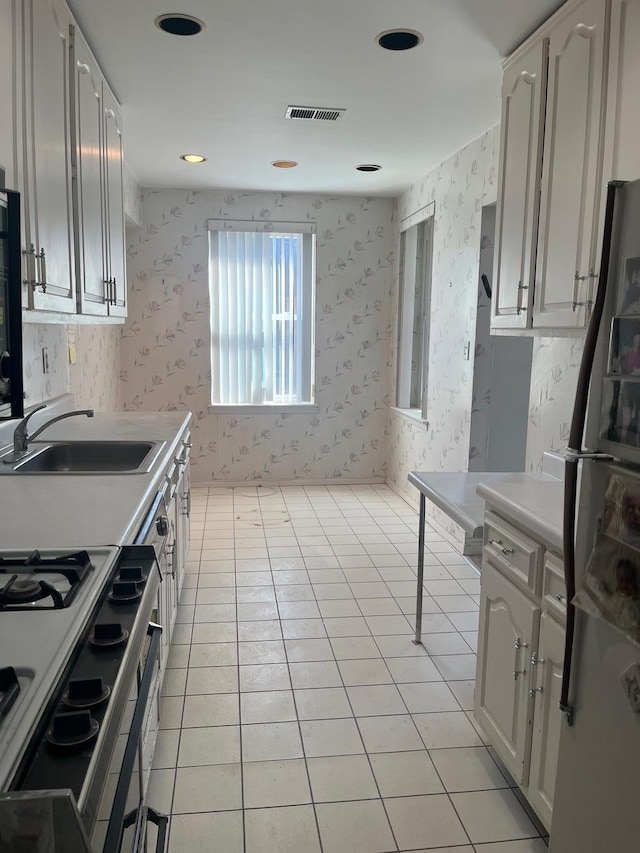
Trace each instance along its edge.
<path fill-rule="evenodd" d="M 565 479 L 569 609 L 550 853 L 640 850 L 640 181 L 609 186 Z"/>

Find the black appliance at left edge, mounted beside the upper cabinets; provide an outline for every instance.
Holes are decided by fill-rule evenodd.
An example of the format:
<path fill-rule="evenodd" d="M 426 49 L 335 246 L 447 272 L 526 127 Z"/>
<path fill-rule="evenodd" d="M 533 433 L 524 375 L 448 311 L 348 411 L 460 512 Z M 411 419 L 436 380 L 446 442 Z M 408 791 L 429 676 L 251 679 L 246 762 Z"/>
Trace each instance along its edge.
<path fill-rule="evenodd" d="M 0 418 L 24 416 L 20 194 L 0 184 Z"/>

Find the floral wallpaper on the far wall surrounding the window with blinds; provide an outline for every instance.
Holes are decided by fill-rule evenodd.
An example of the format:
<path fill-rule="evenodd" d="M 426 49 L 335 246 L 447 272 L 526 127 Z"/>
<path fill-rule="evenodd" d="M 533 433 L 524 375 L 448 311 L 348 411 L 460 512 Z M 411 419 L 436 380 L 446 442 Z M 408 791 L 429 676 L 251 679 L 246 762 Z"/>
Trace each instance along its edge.
<path fill-rule="evenodd" d="M 391 199 L 143 193 L 127 258 L 122 401 L 194 412 L 194 481 L 384 480 L 393 212 Z M 225 217 L 316 223 L 315 413 L 209 412 L 207 219 Z"/>

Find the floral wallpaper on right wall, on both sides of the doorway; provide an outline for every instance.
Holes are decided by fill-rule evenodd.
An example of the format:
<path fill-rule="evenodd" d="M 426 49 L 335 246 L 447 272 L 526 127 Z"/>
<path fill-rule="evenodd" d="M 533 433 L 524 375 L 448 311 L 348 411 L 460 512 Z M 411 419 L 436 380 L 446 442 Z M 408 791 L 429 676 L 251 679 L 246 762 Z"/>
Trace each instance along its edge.
<path fill-rule="evenodd" d="M 435 203 L 432 272 L 432 321 L 429 348 L 429 390 L 424 424 L 391 411 L 388 430 L 389 482 L 413 501 L 416 490 L 407 482 L 412 470 L 473 470 L 482 456 L 471 434 L 472 412 L 482 418 L 488 401 L 474 389 L 471 352 L 486 349 L 476 341 L 476 316 L 485 310 L 478 300 L 482 208 L 496 200 L 499 127 L 471 142 L 398 199 L 398 222 Z M 396 235 L 396 245 L 399 236 Z M 394 283 L 393 328 L 397 328 L 398 283 Z M 582 339 L 536 337 L 527 426 L 525 470 L 542 470 L 545 450 L 566 445 Z M 395 376 L 395 351 L 391 382 Z M 480 381 L 480 377 L 478 382 Z M 392 401 L 395 389 L 392 388 Z M 469 461 L 471 457 L 471 462 Z M 435 507 L 431 517 L 455 537 L 460 531 Z"/>

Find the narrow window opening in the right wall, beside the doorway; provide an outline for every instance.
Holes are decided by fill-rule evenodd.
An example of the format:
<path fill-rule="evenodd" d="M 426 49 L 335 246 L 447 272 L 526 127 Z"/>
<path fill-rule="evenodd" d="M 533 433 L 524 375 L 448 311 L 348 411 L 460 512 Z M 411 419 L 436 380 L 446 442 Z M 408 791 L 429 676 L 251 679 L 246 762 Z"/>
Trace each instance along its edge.
<path fill-rule="evenodd" d="M 396 404 L 426 418 L 433 216 L 400 235 Z"/>

